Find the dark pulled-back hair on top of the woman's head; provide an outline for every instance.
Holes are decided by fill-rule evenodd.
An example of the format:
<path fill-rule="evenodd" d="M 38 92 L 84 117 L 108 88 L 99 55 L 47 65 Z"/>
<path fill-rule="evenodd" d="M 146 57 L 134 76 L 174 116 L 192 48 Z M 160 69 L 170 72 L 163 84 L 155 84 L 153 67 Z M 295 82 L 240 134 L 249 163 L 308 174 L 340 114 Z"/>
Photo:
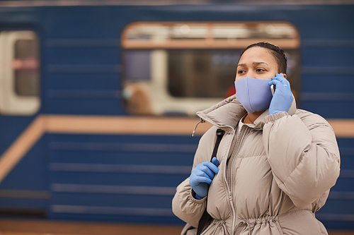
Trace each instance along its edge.
<path fill-rule="evenodd" d="M 246 49 L 241 52 L 241 56 L 244 54 L 244 52 L 246 52 L 247 49 L 250 49 L 251 47 L 263 47 L 270 50 L 278 64 L 278 73 L 287 73 L 287 56 L 285 55 L 285 52 L 280 49 L 280 47 L 270 44 L 269 42 L 257 42 L 249 45 L 249 47 L 246 47 Z"/>

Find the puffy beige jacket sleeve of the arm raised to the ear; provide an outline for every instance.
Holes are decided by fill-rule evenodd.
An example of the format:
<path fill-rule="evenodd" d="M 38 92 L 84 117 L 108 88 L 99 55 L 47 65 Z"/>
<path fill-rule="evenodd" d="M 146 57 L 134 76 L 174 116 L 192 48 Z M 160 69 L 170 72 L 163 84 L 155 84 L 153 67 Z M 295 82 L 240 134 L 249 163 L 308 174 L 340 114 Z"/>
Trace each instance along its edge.
<path fill-rule="evenodd" d="M 313 203 L 336 183 L 336 136 L 321 116 L 304 111 L 265 116 L 263 144 L 275 181 L 295 206 Z"/>

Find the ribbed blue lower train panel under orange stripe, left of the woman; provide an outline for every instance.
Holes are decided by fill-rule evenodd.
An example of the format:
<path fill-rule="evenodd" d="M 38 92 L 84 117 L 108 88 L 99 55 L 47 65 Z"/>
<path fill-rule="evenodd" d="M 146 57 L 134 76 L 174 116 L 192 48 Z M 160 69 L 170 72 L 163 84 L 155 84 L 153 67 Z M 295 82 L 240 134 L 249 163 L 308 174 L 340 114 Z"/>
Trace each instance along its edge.
<path fill-rule="evenodd" d="M 155 223 L 179 222 L 171 211 L 176 191 L 171 184 L 188 177 L 198 139 L 159 135 L 50 139 L 51 218 L 89 214 L 122 222 L 132 222 L 132 216 Z"/>

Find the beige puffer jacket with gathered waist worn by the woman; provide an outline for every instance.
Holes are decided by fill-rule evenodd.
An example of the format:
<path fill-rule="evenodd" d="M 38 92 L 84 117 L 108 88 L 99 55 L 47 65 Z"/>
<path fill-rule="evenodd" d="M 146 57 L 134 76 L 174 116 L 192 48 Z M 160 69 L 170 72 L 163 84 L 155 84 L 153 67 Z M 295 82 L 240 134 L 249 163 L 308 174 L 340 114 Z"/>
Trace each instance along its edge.
<path fill-rule="evenodd" d="M 172 203 L 177 217 L 198 227 L 207 206 L 214 220 L 202 234 L 327 234 L 314 212 L 336 183 L 340 157 L 325 119 L 296 109 L 294 100 L 289 112 L 266 110 L 254 125 L 242 126 L 236 139 L 246 111 L 234 96 L 197 114 L 214 126 L 200 138 L 193 168 L 210 161 L 216 130 L 222 128 L 219 173 L 202 200 L 193 198 L 189 178 L 177 187 Z"/>

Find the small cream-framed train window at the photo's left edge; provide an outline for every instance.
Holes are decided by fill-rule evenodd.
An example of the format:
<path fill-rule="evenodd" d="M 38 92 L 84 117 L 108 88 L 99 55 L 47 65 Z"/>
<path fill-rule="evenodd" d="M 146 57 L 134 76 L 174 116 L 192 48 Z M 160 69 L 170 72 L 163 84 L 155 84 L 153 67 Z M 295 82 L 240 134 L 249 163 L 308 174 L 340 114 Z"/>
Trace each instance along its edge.
<path fill-rule="evenodd" d="M 35 32 L 0 32 L 0 114 L 28 116 L 38 112 L 39 54 Z"/>

